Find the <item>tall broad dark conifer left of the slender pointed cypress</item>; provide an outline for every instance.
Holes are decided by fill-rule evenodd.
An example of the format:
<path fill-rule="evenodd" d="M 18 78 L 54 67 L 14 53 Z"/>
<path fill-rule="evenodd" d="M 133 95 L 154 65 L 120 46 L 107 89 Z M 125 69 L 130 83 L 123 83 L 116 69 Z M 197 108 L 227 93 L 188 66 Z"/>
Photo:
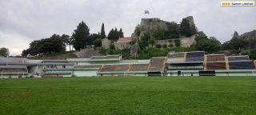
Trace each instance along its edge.
<path fill-rule="evenodd" d="M 74 49 L 80 50 L 85 48 L 86 46 L 92 45 L 92 42 L 90 42 L 90 29 L 88 26 L 86 26 L 85 22 L 80 22 L 77 26 L 77 29 L 74 30 L 73 38 L 74 38 Z"/>

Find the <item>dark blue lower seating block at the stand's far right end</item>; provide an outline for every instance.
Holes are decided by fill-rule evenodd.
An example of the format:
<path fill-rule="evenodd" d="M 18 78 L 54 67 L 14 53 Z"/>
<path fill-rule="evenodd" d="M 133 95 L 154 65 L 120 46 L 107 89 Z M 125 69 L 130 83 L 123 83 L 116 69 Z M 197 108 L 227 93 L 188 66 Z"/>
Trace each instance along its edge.
<path fill-rule="evenodd" d="M 230 69 L 255 69 L 253 61 L 229 61 Z"/>

